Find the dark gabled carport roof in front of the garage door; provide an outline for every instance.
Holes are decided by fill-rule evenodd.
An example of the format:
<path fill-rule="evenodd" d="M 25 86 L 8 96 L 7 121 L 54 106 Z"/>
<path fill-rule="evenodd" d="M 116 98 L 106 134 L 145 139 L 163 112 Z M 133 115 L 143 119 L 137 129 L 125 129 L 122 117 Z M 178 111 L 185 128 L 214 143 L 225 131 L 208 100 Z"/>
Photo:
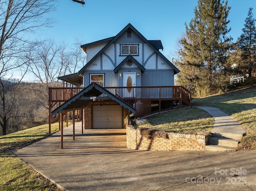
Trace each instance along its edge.
<path fill-rule="evenodd" d="M 102 93 L 104 94 L 104 96 L 100 96 L 102 95 Z M 114 100 L 124 108 L 127 108 L 132 113 L 136 112 L 135 108 L 133 108 L 130 104 L 124 102 L 124 100 L 122 100 L 121 98 L 115 96 L 104 87 L 101 87 L 96 83 L 92 83 L 88 85 L 85 89 L 80 91 L 78 94 L 64 102 L 64 104 L 53 110 L 52 114 L 82 109 L 90 102 L 92 102 L 92 96 L 96 96 L 96 99 L 100 100 Z"/>

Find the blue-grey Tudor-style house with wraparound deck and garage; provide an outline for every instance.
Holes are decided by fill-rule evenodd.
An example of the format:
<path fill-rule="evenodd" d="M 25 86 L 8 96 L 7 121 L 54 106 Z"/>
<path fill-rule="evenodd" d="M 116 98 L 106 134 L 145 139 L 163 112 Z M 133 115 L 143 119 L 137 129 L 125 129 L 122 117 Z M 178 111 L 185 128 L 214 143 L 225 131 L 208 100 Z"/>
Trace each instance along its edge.
<path fill-rule="evenodd" d="M 190 92 L 174 86 L 179 70 L 160 53 L 162 42 L 147 40 L 131 24 L 114 37 L 81 48 L 86 65 L 58 79 L 84 89 L 49 89 L 50 119 L 51 114 L 80 110 L 86 129 L 124 128 L 130 112 L 149 114 L 152 104 L 159 110 L 174 102 L 191 104 Z M 64 104 L 52 111 L 56 102 Z"/>

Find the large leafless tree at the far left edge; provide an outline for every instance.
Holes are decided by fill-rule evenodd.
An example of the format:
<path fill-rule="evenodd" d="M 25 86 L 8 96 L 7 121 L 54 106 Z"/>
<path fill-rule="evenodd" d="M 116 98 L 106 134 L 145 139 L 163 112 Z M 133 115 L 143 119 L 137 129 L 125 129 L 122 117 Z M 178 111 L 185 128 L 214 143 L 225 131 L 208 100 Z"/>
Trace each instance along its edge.
<path fill-rule="evenodd" d="M 13 75 L 15 69 L 20 69 L 28 63 L 30 58 L 24 54 L 38 44 L 38 41 L 32 41 L 28 34 L 36 33 L 42 27 L 51 26 L 53 20 L 45 16 L 54 9 L 54 0 L 0 1 L 0 127 L 4 135 L 8 120 L 15 117 L 12 110 L 16 94 L 8 98 L 8 104 L 6 102 L 10 81 L 8 76 Z M 21 79 L 12 89 L 17 88 L 20 81 Z"/>

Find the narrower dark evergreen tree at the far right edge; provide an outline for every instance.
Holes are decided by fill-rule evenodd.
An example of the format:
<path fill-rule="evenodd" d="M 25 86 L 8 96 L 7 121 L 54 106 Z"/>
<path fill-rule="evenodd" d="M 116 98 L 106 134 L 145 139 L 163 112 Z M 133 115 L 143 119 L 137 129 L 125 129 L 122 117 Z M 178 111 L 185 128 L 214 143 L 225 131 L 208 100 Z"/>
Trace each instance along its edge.
<path fill-rule="evenodd" d="M 242 34 L 238 38 L 238 47 L 241 49 L 242 71 L 244 75 L 252 77 L 252 71 L 256 70 L 256 28 L 252 8 L 249 8 L 248 16 L 245 19 Z"/>

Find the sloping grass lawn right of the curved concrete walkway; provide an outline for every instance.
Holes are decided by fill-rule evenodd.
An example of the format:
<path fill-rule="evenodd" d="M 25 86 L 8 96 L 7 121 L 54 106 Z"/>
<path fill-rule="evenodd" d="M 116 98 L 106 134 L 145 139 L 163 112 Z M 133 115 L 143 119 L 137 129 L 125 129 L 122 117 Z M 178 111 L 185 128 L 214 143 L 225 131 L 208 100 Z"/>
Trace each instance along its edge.
<path fill-rule="evenodd" d="M 256 149 L 256 86 L 222 95 L 193 99 L 192 103 L 220 108 L 230 114 L 247 131 L 238 149 Z"/>

